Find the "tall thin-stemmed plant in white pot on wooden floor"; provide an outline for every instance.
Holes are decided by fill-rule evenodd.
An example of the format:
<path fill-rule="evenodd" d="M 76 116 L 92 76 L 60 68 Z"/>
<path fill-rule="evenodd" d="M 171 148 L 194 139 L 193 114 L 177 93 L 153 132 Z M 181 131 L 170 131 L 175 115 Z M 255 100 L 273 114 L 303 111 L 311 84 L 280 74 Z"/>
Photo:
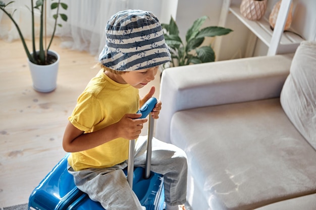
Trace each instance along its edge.
<path fill-rule="evenodd" d="M 33 88 L 36 91 L 43 93 L 54 91 L 57 85 L 57 73 L 60 56 L 54 50 L 50 50 L 49 47 L 55 36 L 57 25 L 62 26 L 61 24 L 57 23 L 58 17 L 61 17 L 62 20 L 67 21 L 67 16 L 60 13 L 60 6 L 64 10 L 67 10 L 68 6 L 64 3 L 61 3 L 61 0 L 58 0 L 58 2 L 56 3 L 53 2 L 50 5 L 50 9 L 56 10 L 56 13 L 53 15 L 53 18 L 55 19 L 54 30 L 52 31 L 48 45 L 46 45 L 46 0 L 37 0 L 35 6 L 33 4 L 33 0 L 31 0 L 31 8 L 29 8 L 29 10 L 32 17 L 32 51 L 30 51 L 17 21 L 13 18 L 16 9 L 13 10 L 12 13 L 8 12 L 7 10 L 8 5 L 12 3 L 14 2 L 9 2 L 8 4 L 5 4 L 3 1 L 0 1 L 0 10 L 2 10 L 10 18 L 10 20 L 13 22 L 16 29 L 18 30 L 20 39 L 28 58 L 33 81 Z M 37 36 L 35 35 L 34 10 L 39 11 L 39 34 Z M 37 41 L 37 39 L 39 40 L 38 50 L 35 47 L 35 42 Z"/>

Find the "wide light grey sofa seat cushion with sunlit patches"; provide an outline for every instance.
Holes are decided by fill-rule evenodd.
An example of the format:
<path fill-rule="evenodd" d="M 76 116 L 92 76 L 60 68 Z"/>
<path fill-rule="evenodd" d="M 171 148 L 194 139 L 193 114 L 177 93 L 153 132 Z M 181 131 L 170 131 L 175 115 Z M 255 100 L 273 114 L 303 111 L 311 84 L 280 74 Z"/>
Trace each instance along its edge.
<path fill-rule="evenodd" d="M 253 209 L 316 193 L 316 152 L 279 98 L 179 111 L 171 142 L 186 152 L 207 209 Z"/>

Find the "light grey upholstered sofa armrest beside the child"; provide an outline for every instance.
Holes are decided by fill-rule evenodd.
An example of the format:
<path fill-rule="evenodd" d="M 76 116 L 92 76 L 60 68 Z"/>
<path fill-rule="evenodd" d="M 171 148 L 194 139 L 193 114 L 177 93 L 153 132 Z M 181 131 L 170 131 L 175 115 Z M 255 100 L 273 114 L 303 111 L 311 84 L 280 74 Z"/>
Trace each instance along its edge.
<path fill-rule="evenodd" d="M 279 97 L 292 58 L 259 56 L 165 69 L 155 136 L 170 143 L 171 118 L 180 110 Z"/>

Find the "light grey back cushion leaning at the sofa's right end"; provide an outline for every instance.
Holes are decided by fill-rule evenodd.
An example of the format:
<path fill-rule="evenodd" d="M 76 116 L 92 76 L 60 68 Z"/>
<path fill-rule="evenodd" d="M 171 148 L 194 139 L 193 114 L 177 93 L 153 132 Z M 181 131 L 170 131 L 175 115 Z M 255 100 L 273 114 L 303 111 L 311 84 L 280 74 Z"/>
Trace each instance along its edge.
<path fill-rule="evenodd" d="M 281 92 L 282 107 L 306 140 L 316 149 L 316 42 L 297 48 Z"/>

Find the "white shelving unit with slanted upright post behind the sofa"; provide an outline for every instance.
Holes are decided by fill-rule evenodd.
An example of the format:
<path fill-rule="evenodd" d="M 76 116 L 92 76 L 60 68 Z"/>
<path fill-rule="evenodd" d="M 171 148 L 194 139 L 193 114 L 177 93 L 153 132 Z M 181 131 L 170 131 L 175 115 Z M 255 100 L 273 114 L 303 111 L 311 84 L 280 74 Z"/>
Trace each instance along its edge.
<path fill-rule="evenodd" d="M 234 2 L 234 4 L 231 4 L 232 2 Z M 246 57 L 253 55 L 256 39 L 260 39 L 265 45 L 268 46 L 267 55 L 293 53 L 300 42 L 303 41 L 299 35 L 292 33 L 295 32 L 293 29 L 289 29 L 289 31 L 292 32 L 283 31 L 292 0 L 282 0 L 276 25 L 273 31 L 270 28 L 267 17 L 262 17 L 258 21 L 248 20 L 240 13 L 240 1 L 238 1 L 239 3 L 237 4 L 236 2 L 237 0 L 223 1 L 219 26 L 226 27 L 227 16 L 229 13 L 231 13 L 253 33 L 247 42 L 245 52 Z M 222 60 L 220 53 L 222 48 L 222 40 L 223 37 L 218 37 L 214 46 L 217 54 L 219 55 L 217 57 L 218 60 Z"/>

